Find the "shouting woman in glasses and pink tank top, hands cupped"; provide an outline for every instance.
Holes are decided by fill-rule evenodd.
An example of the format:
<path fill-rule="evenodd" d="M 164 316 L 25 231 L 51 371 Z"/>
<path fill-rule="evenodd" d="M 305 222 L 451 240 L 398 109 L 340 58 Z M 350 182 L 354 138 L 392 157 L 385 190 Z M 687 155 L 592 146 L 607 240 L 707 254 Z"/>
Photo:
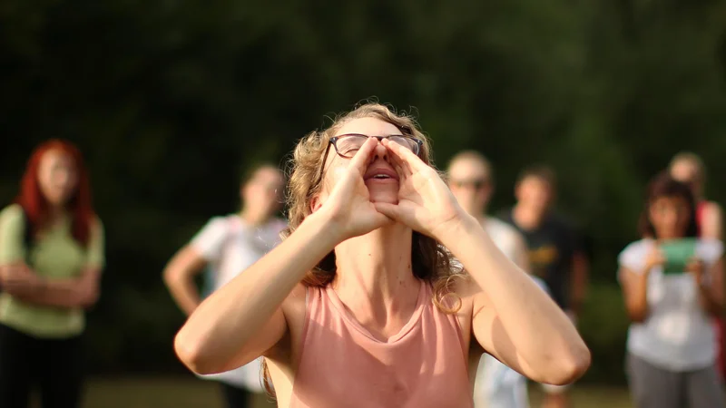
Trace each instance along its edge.
<path fill-rule="evenodd" d="M 378 104 L 300 141 L 288 238 L 194 311 L 182 362 L 211 374 L 263 355 L 280 407 L 471 407 L 467 356 L 482 349 L 537 381 L 584 374 L 574 325 L 430 154 L 413 120 Z"/>

